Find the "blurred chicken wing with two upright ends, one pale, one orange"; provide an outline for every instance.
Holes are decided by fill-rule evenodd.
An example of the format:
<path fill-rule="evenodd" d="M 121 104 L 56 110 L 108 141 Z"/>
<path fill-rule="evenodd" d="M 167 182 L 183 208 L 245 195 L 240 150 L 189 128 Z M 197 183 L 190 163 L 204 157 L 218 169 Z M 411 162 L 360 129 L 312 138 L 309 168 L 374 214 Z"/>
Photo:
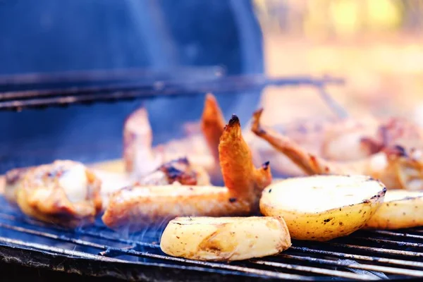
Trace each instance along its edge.
<path fill-rule="evenodd" d="M 221 183 L 219 138 L 225 120 L 213 94 L 207 94 L 201 118 L 201 133 L 188 135 L 152 147 L 152 128 L 145 108 L 134 111 L 123 126 L 123 159 L 125 171 L 133 180 L 140 180 L 161 164 L 187 158 L 192 166 L 201 166 L 216 183 Z"/>

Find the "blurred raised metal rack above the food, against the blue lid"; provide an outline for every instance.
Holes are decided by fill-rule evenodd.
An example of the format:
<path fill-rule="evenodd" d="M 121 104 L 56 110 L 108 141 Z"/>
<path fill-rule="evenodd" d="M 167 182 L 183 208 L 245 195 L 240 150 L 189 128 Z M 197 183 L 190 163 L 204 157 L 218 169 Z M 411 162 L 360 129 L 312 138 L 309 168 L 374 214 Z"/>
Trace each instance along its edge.
<path fill-rule="evenodd" d="M 178 74 L 178 75 L 176 75 Z M 125 76 L 126 75 L 126 76 Z M 66 78 L 66 79 L 65 79 Z M 170 73 L 121 72 L 75 73 L 73 75 L 0 76 L 0 111 L 43 109 L 47 106 L 116 102 L 158 96 L 190 96 L 199 93 L 239 93 L 262 90 L 269 85 L 316 87 L 328 100 L 324 87 L 343 84 L 339 78 L 297 76 L 269 78 L 266 75 L 224 76 L 219 68 L 201 68 Z M 333 102 L 329 106 L 336 108 Z M 341 111 L 337 107 L 336 110 Z"/>

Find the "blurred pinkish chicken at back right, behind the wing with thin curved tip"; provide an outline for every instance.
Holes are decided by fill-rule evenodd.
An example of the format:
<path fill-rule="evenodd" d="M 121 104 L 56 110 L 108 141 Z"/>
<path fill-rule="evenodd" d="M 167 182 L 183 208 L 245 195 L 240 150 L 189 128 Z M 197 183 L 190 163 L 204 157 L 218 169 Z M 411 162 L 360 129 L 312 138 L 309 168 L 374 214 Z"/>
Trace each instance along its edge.
<path fill-rule="evenodd" d="M 422 129 L 405 118 L 396 117 L 364 116 L 341 120 L 295 121 L 278 130 L 266 128 L 266 131 L 288 137 L 309 154 L 338 162 L 367 159 L 396 145 L 405 149 L 422 149 L 423 145 Z M 249 142 L 258 161 L 269 159 L 274 173 L 285 176 L 305 174 L 288 157 L 275 154 L 276 150 L 269 142 L 259 139 L 261 140 L 252 138 Z"/>

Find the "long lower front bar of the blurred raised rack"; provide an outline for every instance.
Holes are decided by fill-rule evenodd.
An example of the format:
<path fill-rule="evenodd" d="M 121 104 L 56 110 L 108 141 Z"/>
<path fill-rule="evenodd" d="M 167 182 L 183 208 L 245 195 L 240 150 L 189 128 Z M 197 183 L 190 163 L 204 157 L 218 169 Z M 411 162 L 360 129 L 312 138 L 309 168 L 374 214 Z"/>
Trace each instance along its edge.
<path fill-rule="evenodd" d="M 239 80 L 239 81 L 238 81 Z M 11 110 L 11 109 L 23 109 L 26 107 L 31 108 L 43 108 L 46 106 L 66 106 L 68 104 L 84 104 L 92 102 L 108 102 L 115 101 L 117 99 L 136 99 L 138 97 L 157 97 L 161 96 L 187 96 L 187 95 L 196 95 L 199 93 L 214 92 L 214 93 L 237 93 L 243 91 L 253 91 L 253 90 L 262 90 L 264 87 L 269 85 L 283 86 L 283 85 L 314 85 L 321 87 L 326 83 L 342 83 L 342 80 L 326 78 L 325 80 L 316 80 L 312 78 L 266 78 L 263 75 L 254 76 L 254 75 L 244 75 L 239 78 L 222 78 L 221 81 L 206 81 L 206 82 L 196 82 L 191 85 L 187 82 L 184 82 L 180 85 L 169 84 L 156 82 L 147 89 L 136 89 L 136 90 L 125 90 L 121 88 L 109 89 L 100 91 L 99 89 L 90 90 L 85 92 L 85 90 L 79 89 L 78 91 L 72 90 L 69 94 L 68 92 L 60 94 L 60 91 L 46 92 L 47 95 L 45 98 L 36 98 L 37 95 L 42 92 L 32 91 L 30 94 L 22 92 L 9 92 L 4 94 L 4 97 L 1 97 L 0 93 L 0 110 Z M 49 97 L 49 95 L 61 96 L 61 97 Z M 16 95 L 16 97 L 15 97 Z M 30 96 L 34 99 L 22 99 L 21 96 Z M 43 94 L 44 95 L 44 94 Z M 6 99 L 6 101 L 4 101 Z M 10 100 L 12 99 L 12 100 Z M 1 101 L 3 100 L 3 101 Z M 9 101 L 10 100 L 10 101 Z"/>

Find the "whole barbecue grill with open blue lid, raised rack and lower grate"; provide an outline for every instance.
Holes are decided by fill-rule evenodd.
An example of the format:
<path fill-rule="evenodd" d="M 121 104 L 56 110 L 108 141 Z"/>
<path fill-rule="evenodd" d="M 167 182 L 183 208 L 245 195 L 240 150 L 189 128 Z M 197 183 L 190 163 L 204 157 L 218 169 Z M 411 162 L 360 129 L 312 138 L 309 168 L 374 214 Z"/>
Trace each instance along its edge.
<path fill-rule="evenodd" d="M 16 3 L 15 1 L 0 2 L 4 2 L 1 5 L 8 8 L 7 12 L 2 13 L 4 18 L 7 18 L 8 15 L 6 14 L 10 13 L 12 15 L 12 23 L 14 20 L 25 21 L 23 20 L 24 16 L 13 16 L 13 11 L 18 11 L 20 15 L 18 8 L 23 6 L 23 8 L 27 9 L 30 1 L 25 4 L 20 3 L 20 1 L 16 1 Z M 53 18 L 54 16 L 58 18 L 65 18 L 66 16 L 75 18 L 72 13 L 59 13 L 59 11 L 67 11 L 68 9 L 74 12 L 78 11 L 75 10 L 75 6 L 72 6 L 74 2 L 61 1 L 63 6 L 57 6 L 57 10 L 54 11 L 56 1 L 51 1 L 50 5 L 47 5 L 50 16 Z M 157 24 L 158 20 L 154 20 L 152 19 L 154 16 L 150 16 L 152 14 L 156 15 L 155 4 L 152 4 L 155 1 L 145 1 L 145 3 L 147 2 L 149 3 L 148 5 L 146 4 L 145 7 L 142 6 L 138 10 L 133 9 L 137 6 L 135 1 L 133 3 L 130 3 L 130 1 L 125 3 L 129 3 L 130 9 L 140 13 L 140 15 L 135 17 L 140 21 L 141 31 L 139 33 L 145 34 L 145 37 L 147 37 L 145 42 L 141 41 L 142 43 L 135 40 L 135 48 L 131 45 L 132 48 L 128 47 L 126 50 L 138 49 L 138 47 L 146 49 L 148 51 L 144 50 L 145 53 L 149 54 L 146 57 L 154 57 L 148 59 L 163 67 L 166 66 L 164 61 L 171 57 L 169 55 L 171 51 L 164 47 L 168 43 L 166 41 L 166 29 L 159 28 L 161 25 Z M 164 3 L 166 1 L 160 2 Z M 191 4 L 185 3 L 186 6 L 180 4 L 182 1 L 178 1 L 179 6 L 173 6 L 173 3 L 176 3 L 174 0 L 167 2 L 168 6 L 171 7 L 168 9 L 175 9 L 177 10 L 176 14 L 178 14 L 178 17 L 173 16 L 171 18 L 171 23 L 182 22 L 184 15 L 179 15 L 179 13 L 185 12 L 187 14 L 191 13 L 192 18 L 206 17 L 204 21 L 208 21 L 209 25 L 214 27 L 214 29 L 210 28 L 210 30 L 219 29 L 219 27 L 216 27 L 219 24 L 221 29 L 231 30 L 232 27 L 229 24 L 232 22 L 236 22 L 237 25 L 243 27 L 240 28 L 241 31 L 231 30 L 232 33 L 228 32 L 231 35 L 231 39 L 240 37 L 240 41 L 242 41 L 240 46 L 242 48 L 236 49 L 234 47 L 234 50 L 224 50 L 223 53 L 225 54 L 219 54 L 219 51 L 216 51 L 219 56 L 231 57 L 230 59 L 226 58 L 226 61 L 230 61 L 233 65 L 237 63 L 243 65 L 243 70 L 237 69 L 239 68 L 238 66 L 231 66 L 228 73 L 221 66 L 198 67 L 209 63 L 209 58 L 204 59 L 209 54 L 204 51 L 207 48 L 201 49 L 199 47 L 201 44 L 194 44 L 194 48 L 184 49 L 186 54 L 181 52 L 183 56 L 180 56 L 186 57 L 183 60 L 185 62 L 180 63 L 180 65 L 195 66 L 192 68 L 166 66 L 163 68 L 164 71 L 153 71 L 152 69 L 144 68 L 92 71 L 93 66 L 90 65 L 88 60 L 90 56 L 99 54 L 96 56 L 97 61 L 101 61 L 100 64 L 103 63 L 104 65 L 108 65 L 104 61 L 109 59 L 107 52 L 100 48 L 102 47 L 102 42 L 104 42 L 104 38 L 101 36 L 102 32 L 100 32 L 104 22 L 97 20 L 95 25 L 100 27 L 92 27 L 91 33 L 81 32 L 77 40 L 78 43 L 82 42 L 82 45 L 95 43 L 92 49 L 83 49 L 82 47 L 78 49 L 78 46 L 74 47 L 70 44 L 68 46 L 66 40 L 63 40 L 63 42 L 56 40 L 56 43 L 63 43 L 60 48 L 56 49 L 64 49 L 64 53 L 71 58 L 65 61 L 73 61 L 73 59 L 78 57 L 75 54 L 82 54 L 79 63 L 73 64 L 72 62 L 70 64 L 73 67 L 77 66 L 76 69 L 88 68 L 90 71 L 0 75 L 0 118 L 6 119 L 11 117 L 11 115 L 20 115 L 24 116 L 26 118 L 25 123 L 28 123 L 28 120 L 33 116 L 42 115 L 44 120 L 48 121 L 51 117 L 60 119 L 60 116 L 57 117 L 58 114 L 66 111 L 72 113 L 83 111 L 87 115 L 85 121 L 97 118 L 95 123 L 90 120 L 91 126 L 89 128 L 83 128 L 80 125 L 82 133 L 78 132 L 66 136 L 38 136 L 37 142 L 42 140 L 41 149 L 37 147 L 38 143 L 34 140 L 27 140 L 25 133 L 18 133 L 18 126 L 16 126 L 18 130 L 15 130 L 15 127 L 3 127 L 0 123 L 2 134 L 13 135 L 11 137 L 8 136 L 10 137 L 8 142 L 3 142 L 3 139 L 0 138 L 0 175 L 11 168 L 45 164 L 54 161 L 54 159 L 74 159 L 90 165 L 114 159 L 117 156 L 120 157 L 122 137 L 121 135 L 109 135 L 113 130 L 106 131 L 107 125 L 104 125 L 104 122 L 99 126 L 103 130 L 102 134 L 99 135 L 102 137 L 107 136 L 106 140 L 92 139 L 97 137 L 95 130 L 98 129 L 99 119 L 104 118 L 104 116 L 91 115 L 90 111 L 105 105 L 118 106 L 127 103 L 125 105 L 129 106 L 122 106 L 119 108 L 122 111 L 114 116 L 114 118 L 119 119 L 130 114 L 136 106 L 139 106 L 138 102 L 143 100 L 199 97 L 207 92 L 212 92 L 218 97 L 231 97 L 234 94 L 247 94 L 252 91 L 261 92 L 265 87 L 269 86 L 297 87 L 305 85 L 315 89 L 321 99 L 324 99 L 336 115 L 340 117 L 346 116 L 341 106 L 336 104 L 326 92 L 328 85 L 342 85 L 343 80 L 341 78 L 333 78 L 331 76 L 319 78 L 310 76 L 268 77 L 262 74 L 262 59 L 259 58 L 262 55 L 262 48 L 259 44 L 260 40 L 257 38 L 259 31 L 256 25 L 252 24 L 252 15 L 250 11 L 247 11 L 247 1 L 227 1 L 227 3 L 231 3 L 227 5 L 231 6 L 234 15 L 236 15 L 233 16 L 234 19 L 228 16 L 230 20 L 225 17 L 216 20 L 216 18 L 207 15 L 207 13 L 203 14 L 203 11 L 198 13 L 198 15 L 196 12 L 192 12 L 194 8 L 191 7 L 195 6 L 197 8 L 197 3 L 201 1 L 191 1 Z M 94 18 L 96 15 L 97 18 L 102 18 L 104 15 L 100 15 L 100 12 L 107 14 L 107 9 L 105 8 L 107 4 L 104 4 L 105 2 L 103 1 L 99 1 L 99 3 L 103 6 L 99 5 L 92 8 L 93 11 L 90 13 L 87 12 L 90 8 L 87 8 L 87 11 L 80 11 L 80 13 L 88 14 L 88 16 L 81 16 L 77 20 L 78 26 L 82 27 L 81 29 L 85 27 L 90 29 L 90 27 L 85 26 L 90 23 L 87 18 Z M 172 4 L 169 5 L 169 3 Z M 215 6 L 211 6 L 216 10 L 221 8 L 219 5 L 226 5 L 216 3 L 219 3 L 219 1 L 214 2 Z M 221 3 L 226 3 L 226 1 L 221 1 Z M 200 6 L 200 4 L 198 5 Z M 35 6 L 39 6 L 39 4 L 35 4 Z M 13 10 L 15 7 L 18 8 Z M 6 8 L 4 11 L 6 11 Z M 39 10 L 43 8 L 46 8 L 46 6 L 37 7 Z M 111 8 L 113 9 L 114 7 Z M 224 10 L 224 8 L 221 9 Z M 122 16 L 119 13 L 120 9 L 116 9 L 116 11 L 118 15 L 116 18 Z M 47 18 L 46 25 L 49 25 L 49 20 L 51 18 Z M 60 20 L 56 18 L 56 22 L 60 23 Z M 91 23 L 94 22 L 95 20 L 91 21 Z M 125 20 L 123 22 L 124 24 L 126 23 Z M 175 30 L 178 28 L 180 30 L 188 30 L 188 26 L 197 25 L 195 20 L 193 22 L 185 23 L 185 25 L 169 25 Z M 158 26 L 157 29 L 156 26 Z M 0 29 L 1 27 L 0 25 Z M 7 43 L 11 34 L 25 33 L 27 29 L 32 27 L 32 24 L 28 21 L 23 25 L 23 31 L 25 32 L 20 32 L 18 28 L 9 28 L 7 24 L 4 27 L 2 32 L 4 32 L 5 42 Z M 207 30 L 207 28 L 209 27 L 204 27 L 204 30 Z M 57 33 L 60 33 L 66 28 L 59 27 L 58 30 L 59 32 Z M 178 32 L 182 33 L 180 30 Z M 201 29 L 199 30 L 195 31 L 201 33 Z M 239 34 L 236 32 L 239 32 Z M 121 32 L 116 33 L 120 35 Z M 123 33 L 122 37 L 116 36 L 115 39 L 123 41 L 123 37 L 129 34 L 130 32 Z M 92 35 L 99 35 L 97 42 L 94 42 L 94 40 L 87 42 L 85 40 Z M 189 37 L 188 35 L 185 36 Z M 201 41 L 204 46 L 212 46 L 207 49 L 208 51 L 213 48 L 217 49 L 218 47 L 216 46 L 223 45 L 220 38 L 216 43 L 216 40 L 207 37 L 212 38 L 212 35 L 205 35 L 200 40 L 195 37 L 192 38 Z M 191 43 L 190 40 L 194 40 L 192 38 L 189 37 L 186 42 L 178 43 L 188 46 Z M 27 39 L 28 37 L 23 37 L 23 40 L 12 48 L 5 44 L 6 48 L 0 50 L 0 61 L 3 65 L 11 66 L 11 73 L 16 73 L 15 68 L 19 65 L 18 63 L 14 64 L 13 58 L 9 58 L 13 57 L 11 54 L 16 51 L 14 48 L 18 49 L 16 54 L 25 54 L 26 56 L 35 56 L 37 51 L 44 48 L 42 44 L 39 45 L 41 47 L 38 45 L 34 48 L 32 48 L 32 45 L 27 47 L 27 45 L 30 45 Z M 231 39 L 227 38 L 228 42 Z M 43 42 L 43 40 L 49 41 L 47 32 L 38 32 L 37 40 L 32 40 L 31 44 L 36 45 L 38 42 Z M 184 40 L 185 38 L 180 39 L 180 41 Z M 111 45 L 115 47 L 114 44 Z M 148 46 L 145 47 L 144 45 Z M 186 47 L 185 45 L 183 45 L 183 48 Z M 0 47 L 3 46 L 0 45 Z M 49 46 L 47 49 L 54 53 L 53 58 L 60 58 L 60 52 L 55 53 L 54 47 Z M 72 56 L 73 49 L 77 51 Z M 107 48 L 105 47 L 104 49 Z M 197 52 L 197 55 L 195 55 L 195 52 Z M 238 53 L 243 54 L 241 56 Z M 194 57 L 194 59 L 190 56 Z M 135 63 L 131 61 L 136 61 L 137 59 L 138 61 Z M 39 64 L 42 65 L 42 68 L 48 68 L 44 60 L 41 61 Z M 109 65 L 114 65 L 111 61 L 113 60 L 108 61 Z M 133 66 L 145 63 L 142 55 L 140 57 L 130 56 L 128 61 L 130 63 L 125 65 Z M 142 62 L 140 63 L 140 61 Z M 209 65 L 214 64 L 209 63 Z M 114 67 L 109 66 L 109 68 Z M 26 66 L 26 68 L 28 67 Z M 25 66 L 23 66 L 23 69 L 25 69 Z M 52 69 L 57 71 L 55 64 Z M 1 69 L 0 71 L 4 72 Z M 84 108 L 84 106 L 87 106 L 87 108 Z M 247 111 L 252 112 L 253 110 L 248 109 Z M 6 111 L 9 112 L 6 113 Z M 10 111 L 17 111 L 18 113 Z M 50 114 L 51 116 L 49 116 Z M 71 114 L 68 114 L 67 117 L 69 116 Z M 19 120 L 16 118 L 13 121 L 23 123 L 25 118 Z M 243 121 L 243 119 L 241 120 Z M 48 133 L 48 130 L 44 130 L 42 125 L 35 125 L 34 128 L 27 127 L 25 130 L 32 130 L 32 133 L 35 133 L 35 130 L 42 130 L 39 135 Z M 8 129 L 13 129 L 14 132 L 11 133 Z M 166 130 L 169 131 L 168 134 L 162 135 L 155 142 L 178 137 L 176 133 L 167 127 Z M 57 131 L 59 132 L 60 130 Z M 65 141 L 66 145 L 63 145 Z M 13 145 L 16 145 L 18 149 L 15 149 Z M 60 146 L 58 147 L 58 145 Z M 0 187 L 3 186 L 2 180 L 3 178 L 0 177 Z M 1 281 L 16 276 L 30 277 L 31 281 L 57 281 L 62 278 L 76 278 L 83 281 L 235 281 L 240 279 L 242 281 L 360 281 L 386 279 L 390 281 L 415 279 L 417 281 L 423 277 L 423 227 L 398 231 L 357 231 L 345 238 L 337 238 L 326 243 L 293 240 L 293 246 L 281 255 L 231 263 L 199 262 L 170 257 L 161 252 L 159 242 L 165 227 L 164 224 L 155 223 L 145 228 L 142 232 L 129 234 L 124 231 L 121 233 L 111 231 L 104 226 L 102 221 L 98 220 L 94 223 L 94 226 L 70 231 L 23 215 L 16 207 L 4 200 L 1 192 L 0 206 Z"/>

